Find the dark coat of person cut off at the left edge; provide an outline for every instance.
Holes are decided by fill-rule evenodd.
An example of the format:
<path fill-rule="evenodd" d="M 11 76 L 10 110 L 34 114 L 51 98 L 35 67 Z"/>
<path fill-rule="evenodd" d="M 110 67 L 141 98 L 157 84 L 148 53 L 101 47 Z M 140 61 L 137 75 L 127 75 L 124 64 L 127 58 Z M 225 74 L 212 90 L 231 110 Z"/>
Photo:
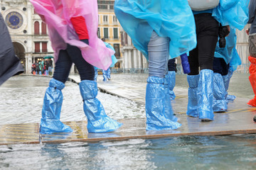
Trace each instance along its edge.
<path fill-rule="evenodd" d="M 23 66 L 15 55 L 9 30 L 0 13 L 0 86 L 10 77 L 24 72 Z"/>

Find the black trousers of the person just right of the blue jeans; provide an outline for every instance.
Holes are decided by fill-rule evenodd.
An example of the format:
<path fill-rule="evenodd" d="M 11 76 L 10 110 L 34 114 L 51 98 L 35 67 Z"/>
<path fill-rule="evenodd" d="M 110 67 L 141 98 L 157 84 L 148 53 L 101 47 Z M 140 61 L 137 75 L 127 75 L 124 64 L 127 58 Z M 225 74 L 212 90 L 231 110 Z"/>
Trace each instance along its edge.
<path fill-rule="evenodd" d="M 198 67 L 213 69 L 213 57 L 218 41 L 219 23 L 211 13 L 194 15 L 196 21 L 196 48 L 189 52 L 188 62 L 191 67 L 189 75 L 199 74 Z"/>

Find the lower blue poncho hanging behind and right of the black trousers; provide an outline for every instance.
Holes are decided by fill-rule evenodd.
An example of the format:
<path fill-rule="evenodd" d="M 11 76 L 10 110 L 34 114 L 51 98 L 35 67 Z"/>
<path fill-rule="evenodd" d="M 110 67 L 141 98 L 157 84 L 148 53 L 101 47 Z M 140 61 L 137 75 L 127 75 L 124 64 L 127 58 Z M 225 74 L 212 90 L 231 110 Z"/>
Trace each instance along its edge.
<path fill-rule="evenodd" d="M 214 57 L 223 58 L 227 64 L 232 60 L 232 64 L 237 67 L 241 64 L 241 60 L 237 50 L 235 49 L 237 40 L 235 29 L 230 28 L 230 34 L 225 38 L 225 40 L 226 45 L 223 48 L 220 48 L 219 43 L 217 43 Z"/>

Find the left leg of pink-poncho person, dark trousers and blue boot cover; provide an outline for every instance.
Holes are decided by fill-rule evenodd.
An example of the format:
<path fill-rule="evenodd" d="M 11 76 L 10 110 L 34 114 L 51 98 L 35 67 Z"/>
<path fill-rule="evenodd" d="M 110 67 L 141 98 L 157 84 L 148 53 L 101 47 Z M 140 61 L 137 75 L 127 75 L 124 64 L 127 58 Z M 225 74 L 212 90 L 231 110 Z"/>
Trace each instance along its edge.
<path fill-rule="evenodd" d="M 60 111 L 63 103 L 61 90 L 65 87 L 72 62 L 66 50 L 60 50 L 58 61 L 55 64 L 55 73 L 50 80 L 49 87 L 43 98 L 42 118 L 40 124 L 41 134 L 53 132 L 72 132 L 73 130 L 60 122 Z"/>

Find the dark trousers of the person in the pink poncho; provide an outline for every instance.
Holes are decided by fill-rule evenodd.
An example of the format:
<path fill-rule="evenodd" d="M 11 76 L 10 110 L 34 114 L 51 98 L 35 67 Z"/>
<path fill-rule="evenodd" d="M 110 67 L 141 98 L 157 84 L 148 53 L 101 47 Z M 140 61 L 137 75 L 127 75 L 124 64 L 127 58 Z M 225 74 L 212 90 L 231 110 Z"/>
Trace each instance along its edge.
<path fill-rule="evenodd" d="M 88 44 L 88 40 L 82 41 Z M 80 49 L 73 45 L 68 45 L 67 49 L 60 50 L 53 78 L 65 84 L 73 63 L 78 68 L 81 81 L 94 80 L 94 67 L 83 59 Z"/>

